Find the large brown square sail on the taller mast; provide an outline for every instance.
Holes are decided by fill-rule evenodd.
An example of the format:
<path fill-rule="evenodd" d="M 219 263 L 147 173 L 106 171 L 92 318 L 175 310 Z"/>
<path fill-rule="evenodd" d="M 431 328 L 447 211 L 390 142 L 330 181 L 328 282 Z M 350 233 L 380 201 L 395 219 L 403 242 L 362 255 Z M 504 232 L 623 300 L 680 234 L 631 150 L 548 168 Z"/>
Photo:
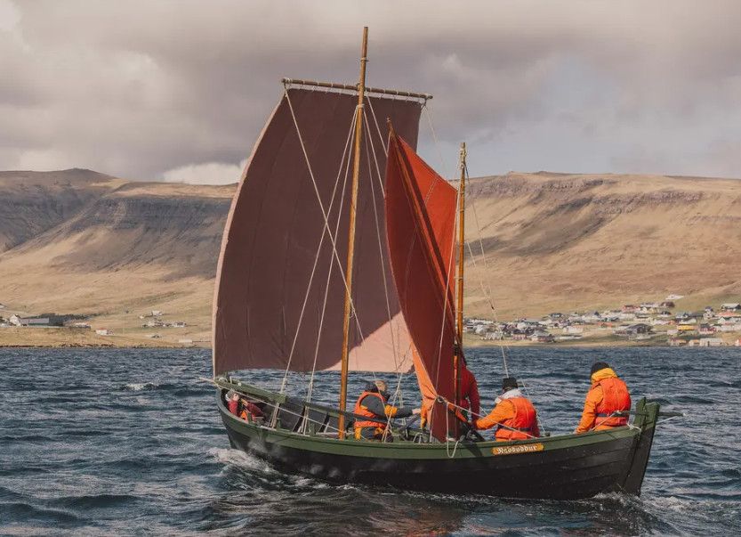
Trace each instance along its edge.
<path fill-rule="evenodd" d="M 290 370 L 333 369 L 340 362 L 344 282 L 336 266 L 329 272 L 335 263 L 332 240 L 326 237 L 318 248 L 326 223 L 306 160 L 323 206 L 331 207 L 326 217 L 336 256 L 344 259 L 350 192 L 342 191 L 342 185 L 334 187 L 356 104 L 357 95 L 289 87 L 255 144 L 221 243 L 213 301 L 214 374 L 252 368 L 285 370 L 294 338 Z M 419 102 L 375 96 L 373 106 L 415 145 Z M 382 131 L 385 137 L 387 131 Z M 375 236 L 376 212 L 382 222 L 385 219 L 383 191 L 372 189 L 371 181 L 377 178 L 371 177 L 367 159 L 377 159 L 385 167 L 384 140 L 378 133 L 366 136 L 374 136 L 375 155 L 365 154 L 360 168 L 352 297 L 360 326 L 352 330 L 350 369 L 409 370 L 411 359 L 397 363 L 409 339 L 391 269 L 383 256 L 379 262 L 379 238 Z M 380 240 L 385 250 L 385 233 Z M 307 296 L 315 260 L 317 273 Z M 379 263 L 384 263 L 385 282 Z M 390 291 L 390 307 L 383 300 L 384 287 Z M 307 306 L 299 329 L 304 300 Z"/>

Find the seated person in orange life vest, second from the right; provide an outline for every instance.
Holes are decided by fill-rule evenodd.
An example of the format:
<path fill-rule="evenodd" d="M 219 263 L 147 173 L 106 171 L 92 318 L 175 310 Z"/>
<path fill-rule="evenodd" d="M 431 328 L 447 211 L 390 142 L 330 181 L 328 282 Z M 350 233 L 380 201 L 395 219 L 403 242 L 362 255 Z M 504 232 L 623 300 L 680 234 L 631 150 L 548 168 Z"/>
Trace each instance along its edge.
<path fill-rule="evenodd" d="M 502 395 L 496 398 L 494 410 L 473 422 L 477 429 L 496 427 L 495 439 L 526 440 L 540 436 L 537 412 L 533 403 L 522 395 L 517 378 L 502 379 Z"/>

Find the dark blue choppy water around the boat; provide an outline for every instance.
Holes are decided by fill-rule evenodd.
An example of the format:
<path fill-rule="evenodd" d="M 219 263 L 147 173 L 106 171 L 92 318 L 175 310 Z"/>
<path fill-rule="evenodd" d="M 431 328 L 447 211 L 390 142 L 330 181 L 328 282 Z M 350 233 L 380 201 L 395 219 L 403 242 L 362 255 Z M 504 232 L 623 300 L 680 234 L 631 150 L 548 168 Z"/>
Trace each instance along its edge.
<path fill-rule="evenodd" d="M 287 476 L 229 449 L 213 388 L 197 380 L 210 376 L 206 351 L 0 349 L 0 533 L 741 533 L 741 349 L 520 347 L 510 367 L 545 427 L 565 433 L 597 358 L 633 395 L 687 414 L 660 424 L 640 499 L 498 500 Z M 488 409 L 499 351 L 469 362 Z M 299 390 L 301 376 L 292 381 Z M 318 399 L 331 401 L 336 383 L 321 374 Z M 414 379 L 405 386 L 409 399 Z"/>

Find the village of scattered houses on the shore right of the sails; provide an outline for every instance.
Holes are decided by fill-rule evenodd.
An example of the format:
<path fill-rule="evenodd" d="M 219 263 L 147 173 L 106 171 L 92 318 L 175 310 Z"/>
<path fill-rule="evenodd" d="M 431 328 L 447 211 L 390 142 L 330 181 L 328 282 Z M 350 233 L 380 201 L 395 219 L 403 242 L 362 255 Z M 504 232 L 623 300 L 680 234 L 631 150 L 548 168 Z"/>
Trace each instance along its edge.
<path fill-rule="evenodd" d="M 480 342 L 646 346 L 741 346 L 741 303 L 678 311 L 681 295 L 662 302 L 625 304 L 606 311 L 549 313 L 538 319 L 465 320 L 463 332 Z"/>

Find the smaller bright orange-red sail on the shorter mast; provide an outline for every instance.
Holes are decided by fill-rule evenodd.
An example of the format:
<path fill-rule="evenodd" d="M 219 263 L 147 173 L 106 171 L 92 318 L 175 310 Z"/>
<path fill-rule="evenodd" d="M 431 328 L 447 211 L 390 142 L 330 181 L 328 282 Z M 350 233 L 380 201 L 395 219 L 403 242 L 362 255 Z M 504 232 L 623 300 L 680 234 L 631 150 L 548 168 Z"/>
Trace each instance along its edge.
<path fill-rule="evenodd" d="M 391 271 L 431 434 L 457 436 L 453 246 L 457 191 L 391 131 L 386 164 L 386 236 Z"/>

